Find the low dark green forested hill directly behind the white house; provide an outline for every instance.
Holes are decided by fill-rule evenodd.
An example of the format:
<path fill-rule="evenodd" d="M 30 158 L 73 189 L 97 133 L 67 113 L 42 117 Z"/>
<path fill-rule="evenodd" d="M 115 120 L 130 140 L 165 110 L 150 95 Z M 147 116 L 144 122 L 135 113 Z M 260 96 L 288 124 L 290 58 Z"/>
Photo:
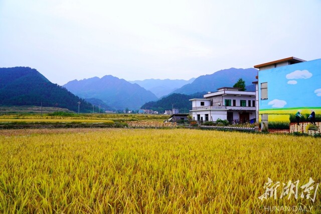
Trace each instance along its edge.
<path fill-rule="evenodd" d="M 172 110 L 172 107 L 174 107 L 175 109 L 179 109 L 180 113 L 189 113 L 189 111 L 192 110 L 192 102 L 189 100 L 193 98 L 203 98 L 204 94 L 206 94 L 206 92 L 191 95 L 175 93 L 163 97 L 160 100 L 145 103 L 141 106 L 141 109 L 151 109 L 159 113 L 164 113 L 165 110 Z"/>

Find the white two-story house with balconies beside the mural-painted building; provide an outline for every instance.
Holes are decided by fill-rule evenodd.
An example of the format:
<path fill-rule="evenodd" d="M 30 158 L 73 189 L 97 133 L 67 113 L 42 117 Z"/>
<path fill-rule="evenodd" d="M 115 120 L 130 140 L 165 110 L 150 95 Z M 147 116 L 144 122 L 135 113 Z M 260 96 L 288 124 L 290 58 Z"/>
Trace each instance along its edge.
<path fill-rule="evenodd" d="M 217 92 L 208 92 L 204 99 L 191 99 L 193 120 L 228 120 L 230 123 L 255 121 L 255 92 L 240 91 L 240 88 L 223 87 Z"/>

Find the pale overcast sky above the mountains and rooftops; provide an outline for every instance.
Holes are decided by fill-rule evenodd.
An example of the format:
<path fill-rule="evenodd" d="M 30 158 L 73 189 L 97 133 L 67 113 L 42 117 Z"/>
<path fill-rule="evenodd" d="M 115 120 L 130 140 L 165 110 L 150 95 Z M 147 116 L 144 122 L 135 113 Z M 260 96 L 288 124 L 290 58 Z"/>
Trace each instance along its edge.
<path fill-rule="evenodd" d="M 53 83 L 190 79 L 321 58 L 321 1 L 0 0 L 0 67 Z"/>

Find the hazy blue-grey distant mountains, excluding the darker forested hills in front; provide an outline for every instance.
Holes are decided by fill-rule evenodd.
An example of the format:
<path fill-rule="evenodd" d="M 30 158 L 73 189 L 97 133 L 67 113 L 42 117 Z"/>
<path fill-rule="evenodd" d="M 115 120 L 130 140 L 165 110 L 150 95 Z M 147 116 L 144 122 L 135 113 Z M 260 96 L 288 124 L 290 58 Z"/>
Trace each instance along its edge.
<path fill-rule="evenodd" d="M 254 91 L 255 86 L 252 82 L 256 80 L 256 75 L 257 70 L 254 68 L 230 68 L 190 80 L 147 79 L 126 81 L 106 75 L 102 78 L 73 80 L 65 84 L 64 87 L 95 105 L 105 103 L 113 110 L 125 108 L 136 110 L 143 107 L 147 102 L 156 101 L 159 97 L 168 96 L 172 93 L 191 95 L 216 91 L 220 87 L 233 87 L 239 78 L 245 81 L 247 91 Z M 182 108 L 186 109 L 188 106 Z"/>

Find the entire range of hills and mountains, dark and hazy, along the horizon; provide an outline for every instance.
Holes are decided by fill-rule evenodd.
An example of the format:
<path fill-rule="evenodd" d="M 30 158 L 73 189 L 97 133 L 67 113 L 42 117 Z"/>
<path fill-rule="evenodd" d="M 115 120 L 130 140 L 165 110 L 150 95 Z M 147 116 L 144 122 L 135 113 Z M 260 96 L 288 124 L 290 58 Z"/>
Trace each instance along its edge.
<path fill-rule="evenodd" d="M 168 108 L 170 107 L 168 105 L 174 103 L 175 108 L 188 110 L 190 108 L 188 102 L 184 102 L 182 106 L 180 104 L 185 99 L 182 94 L 193 95 L 213 92 L 220 87 L 232 87 L 239 78 L 246 82 L 247 91 L 254 91 L 252 82 L 256 80 L 257 70 L 230 68 L 190 80 L 148 79 L 131 81 L 133 83 L 106 75 L 102 78 L 73 80 L 63 87 L 51 83 L 37 70 L 29 67 L 0 68 L 0 74 L 0 105 L 40 105 L 42 102 L 44 106 L 78 111 L 78 105 L 75 103 L 80 101 L 82 112 L 92 112 L 93 106 L 90 103 L 96 108 L 100 106 L 106 110 L 125 108 L 137 110 L 141 107 L 152 107 L 161 112 L 162 108 Z M 148 89 L 155 92 L 158 97 L 169 98 L 152 102 L 158 98 Z"/>

